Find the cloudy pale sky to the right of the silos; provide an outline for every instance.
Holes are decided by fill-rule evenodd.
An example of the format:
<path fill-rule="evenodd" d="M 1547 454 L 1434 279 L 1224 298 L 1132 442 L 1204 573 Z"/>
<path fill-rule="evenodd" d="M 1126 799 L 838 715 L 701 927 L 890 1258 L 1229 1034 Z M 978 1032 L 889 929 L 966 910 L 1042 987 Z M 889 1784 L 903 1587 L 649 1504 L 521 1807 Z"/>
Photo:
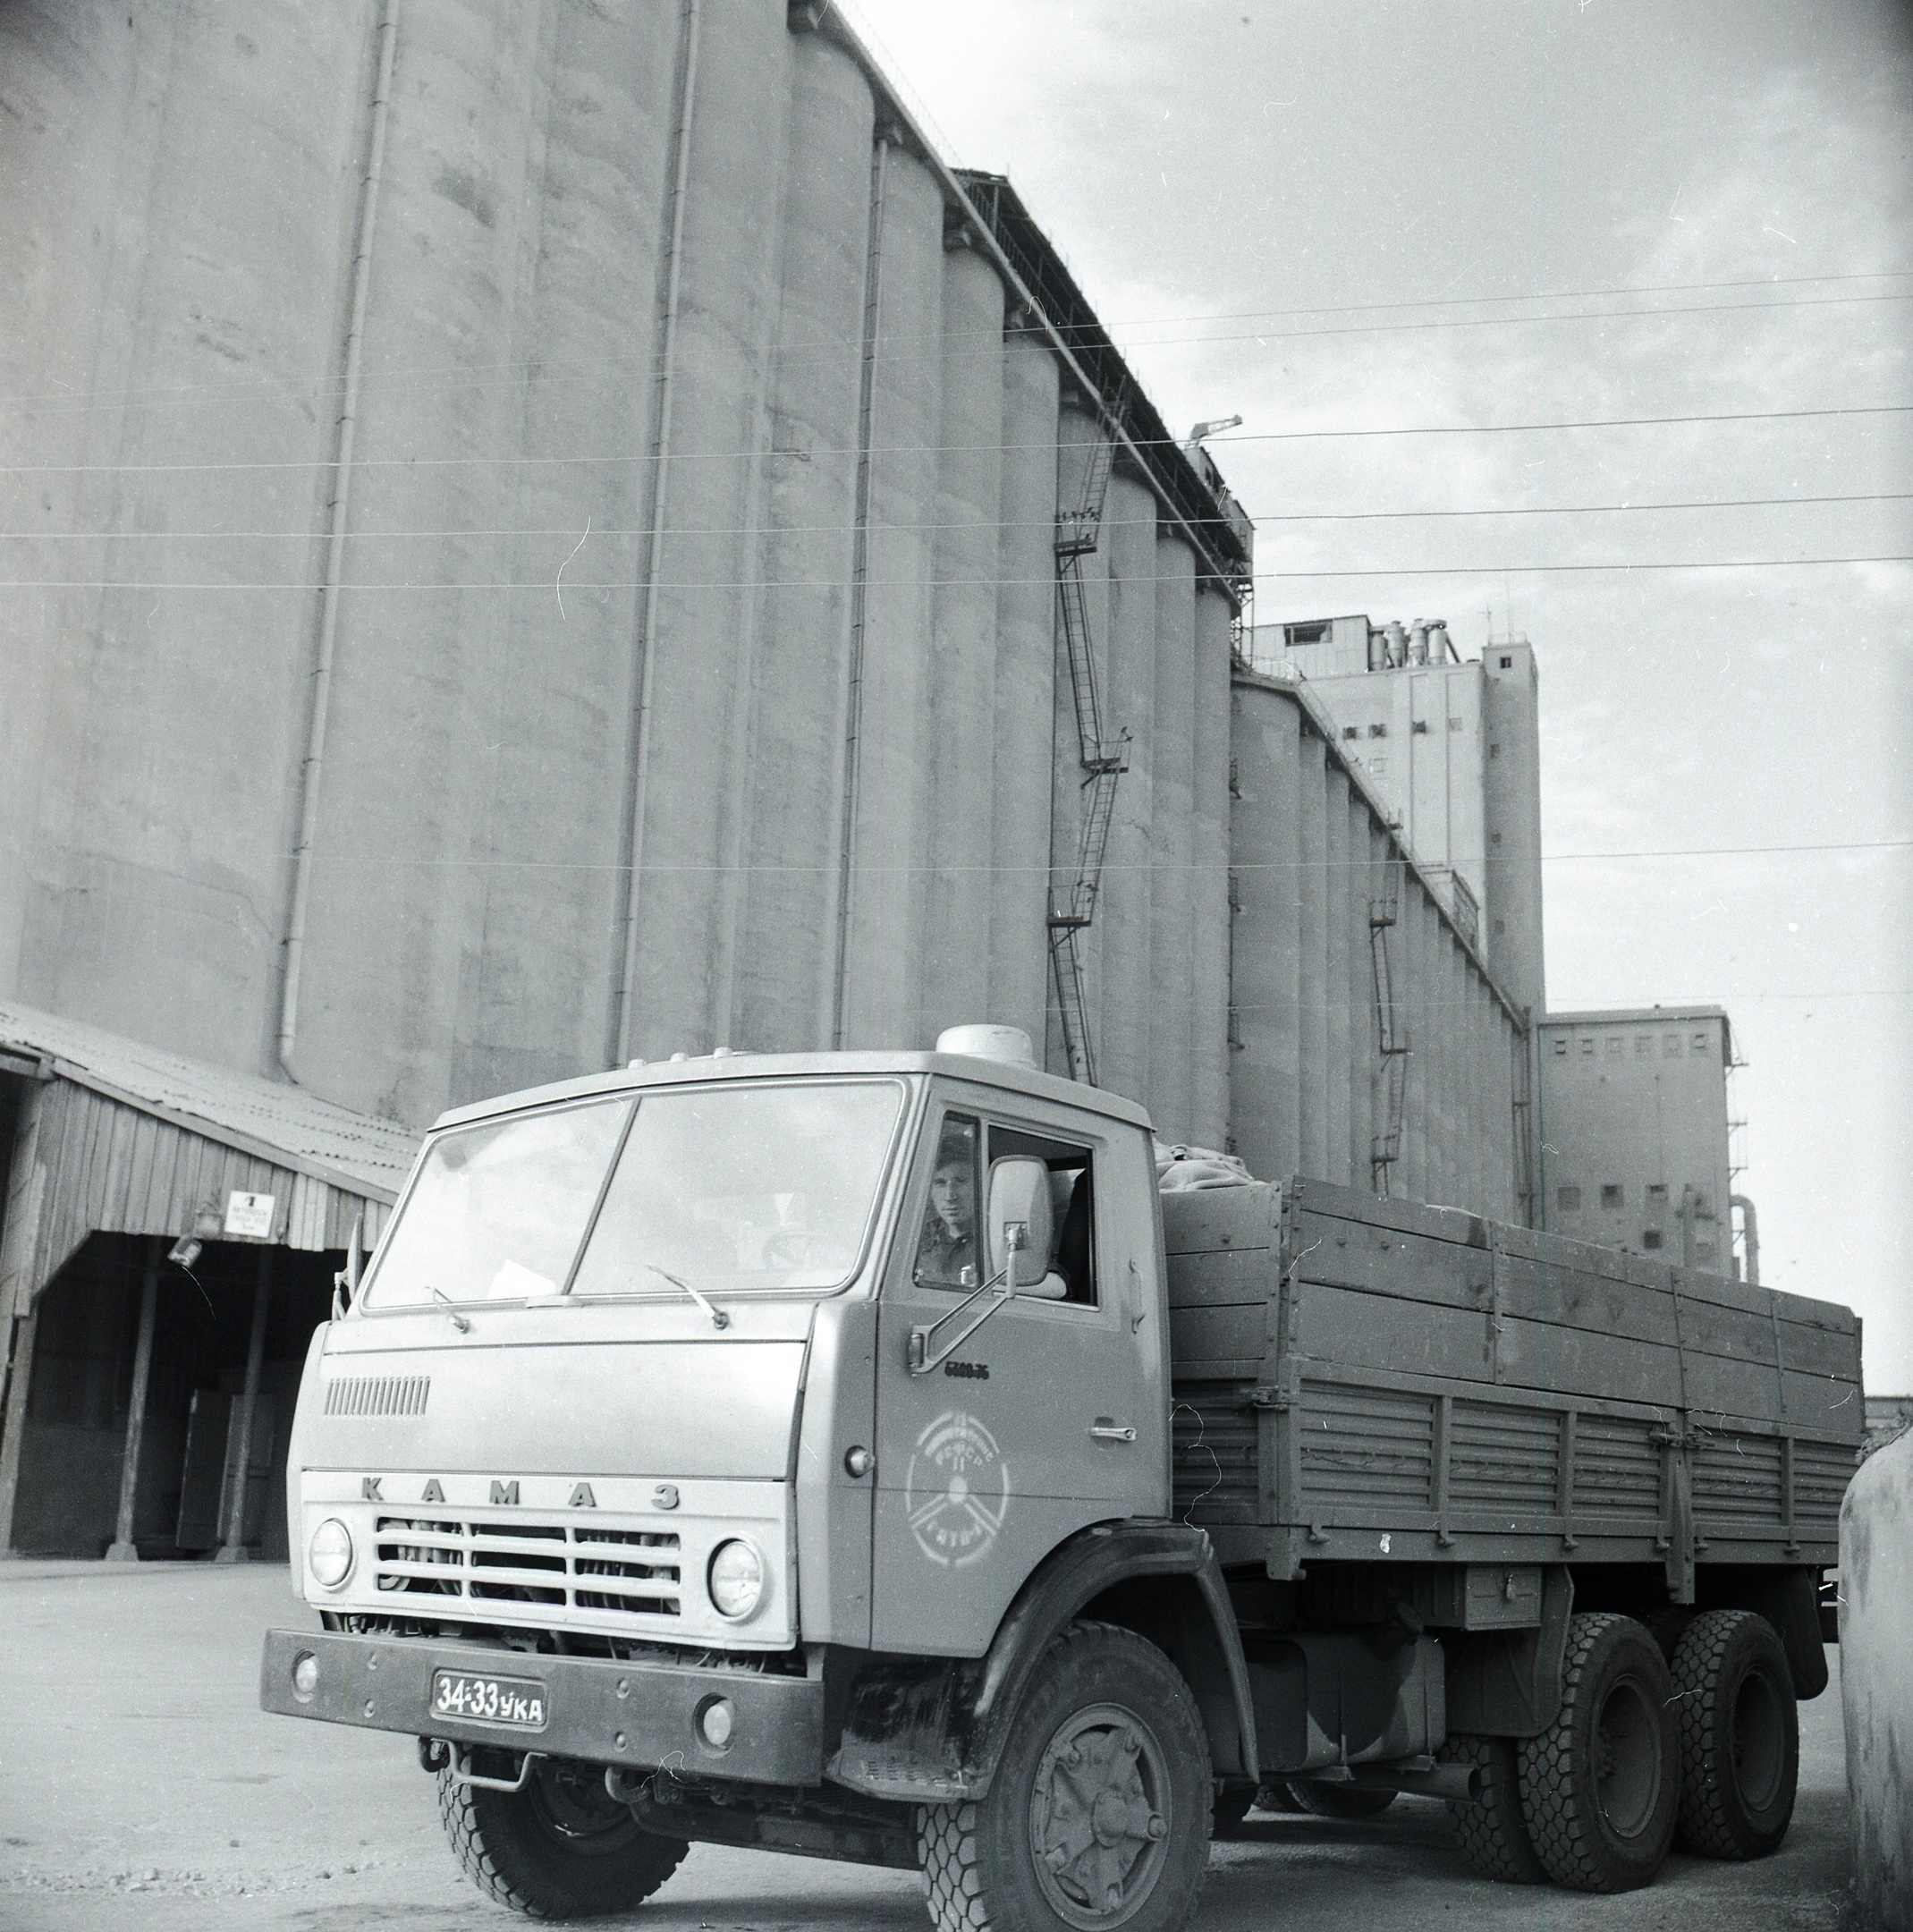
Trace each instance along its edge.
<path fill-rule="evenodd" d="M 1762 1279 L 1913 1391 L 1913 415 L 1851 413 L 1913 404 L 1913 8 L 844 12 L 1242 415 L 1258 624 L 1534 641 L 1550 1005 L 1727 1009 Z M 1714 419 L 1484 433 L 1617 417 Z"/>

